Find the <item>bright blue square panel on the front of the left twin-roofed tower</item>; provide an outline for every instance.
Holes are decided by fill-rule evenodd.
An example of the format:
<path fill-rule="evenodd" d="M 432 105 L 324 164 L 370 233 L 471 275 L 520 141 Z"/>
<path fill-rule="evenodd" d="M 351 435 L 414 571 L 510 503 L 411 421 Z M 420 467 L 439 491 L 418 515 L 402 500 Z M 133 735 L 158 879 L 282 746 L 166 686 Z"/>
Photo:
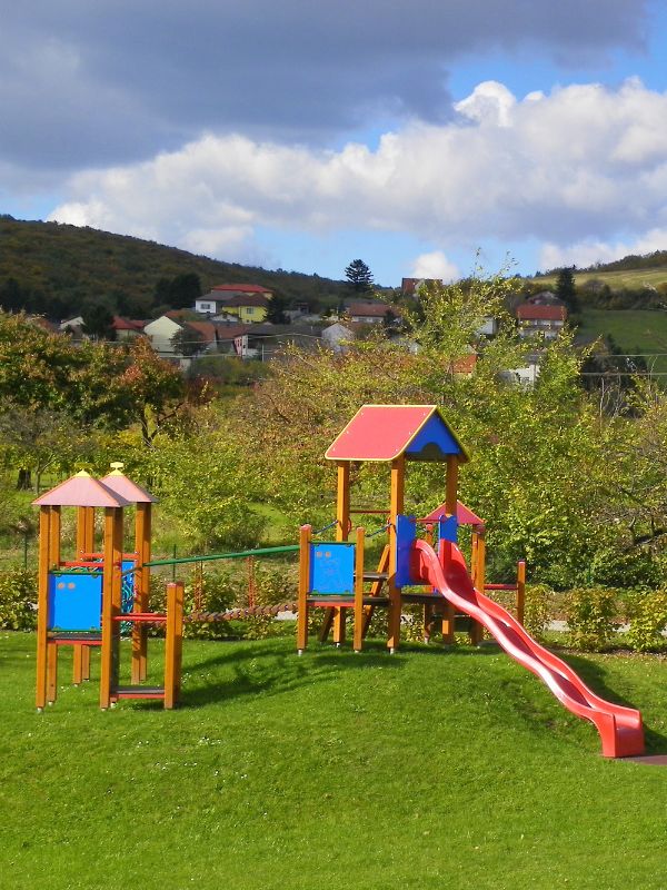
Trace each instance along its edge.
<path fill-rule="evenodd" d="M 102 573 L 49 575 L 50 631 L 99 631 L 102 615 Z"/>

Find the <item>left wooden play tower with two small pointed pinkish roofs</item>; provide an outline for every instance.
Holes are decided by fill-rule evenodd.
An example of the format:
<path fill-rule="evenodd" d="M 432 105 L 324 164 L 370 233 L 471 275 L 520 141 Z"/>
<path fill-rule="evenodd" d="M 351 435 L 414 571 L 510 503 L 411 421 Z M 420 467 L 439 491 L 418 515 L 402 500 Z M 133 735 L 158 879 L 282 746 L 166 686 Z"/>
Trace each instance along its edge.
<path fill-rule="evenodd" d="M 38 580 L 37 693 L 42 710 L 56 701 L 58 651 L 73 647 L 73 682 L 90 676 L 90 649 L 100 647 L 100 706 L 122 698 L 163 699 L 171 708 L 180 678 L 179 600 L 182 584 L 168 587 L 171 609 L 148 613 L 150 583 L 151 506 L 155 497 L 131 482 L 120 468 L 103 479 L 78 473 L 34 501 L 40 508 Z M 135 506 L 135 551 L 123 552 L 123 508 Z M 61 560 L 61 511 L 74 507 L 76 556 Z M 96 510 L 103 510 L 102 550 L 94 550 Z M 182 610 L 181 610 L 182 614 Z M 120 686 L 121 622 L 131 625 L 130 686 Z M 167 625 L 165 685 L 140 685 L 147 675 L 147 625 Z"/>

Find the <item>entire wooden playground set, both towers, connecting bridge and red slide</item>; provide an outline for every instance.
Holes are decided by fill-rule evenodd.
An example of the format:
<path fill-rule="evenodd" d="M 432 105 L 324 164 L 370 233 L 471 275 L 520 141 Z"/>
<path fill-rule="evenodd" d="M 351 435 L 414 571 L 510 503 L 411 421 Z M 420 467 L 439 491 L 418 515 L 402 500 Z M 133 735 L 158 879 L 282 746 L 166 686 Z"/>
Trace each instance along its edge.
<path fill-rule="evenodd" d="M 182 631 L 185 621 L 219 621 L 237 616 L 205 613 L 183 616 L 183 584 L 167 585 L 165 613 L 148 612 L 149 575 L 152 566 L 202 563 L 212 560 L 299 551 L 297 649 L 308 644 L 308 617 L 322 609 L 320 639 L 332 631 L 334 642 L 345 641 L 346 612 L 354 616 L 355 651 L 360 652 L 376 609 L 387 611 L 387 646 L 396 652 L 400 642 L 405 604 L 424 607 L 424 635 L 428 639 L 434 616 L 442 622 L 445 642 L 454 642 L 457 613 L 467 616 L 474 642 L 488 631 L 505 651 L 545 682 L 570 712 L 597 728 L 603 755 L 621 758 L 644 752 L 644 731 L 638 711 L 607 702 L 589 690 L 578 675 L 532 640 L 520 620 L 490 600 L 485 590 L 511 590 L 522 617 L 525 565 L 519 563 L 516 585 L 486 584 L 485 526 L 457 500 L 459 466 L 468 456 L 436 406 L 366 405 L 359 409 L 326 454 L 336 463 L 338 494 L 336 540 L 313 541 L 309 525 L 300 531 L 298 545 L 265 547 L 240 553 L 212 554 L 180 560 L 150 560 L 151 504 L 155 498 L 120 472 L 121 465 L 103 479 L 78 474 L 39 497 L 40 562 L 37 652 L 37 708 L 56 700 L 58 649 L 74 650 L 74 682 L 89 675 L 91 646 L 100 647 L 100 708 L 119 699 L 159 699 L 173 708 L 180 693 Z M 350 505 L 352 463 L 374 461 L 389 464 L 388 511 L 355 510 Z M 446 501 L 418 520 L 404 514 L 406 464 L 412 461 L 446 465 Z M 135 551 L 123 553 L 123 510 L 136 508 Z M 77 508 L 77 555 L 61 560 L 61 508 Z M 94 551 L 94 511 L 103 508 L 103 542 Z M 365 565 L 366 531 L 352 528 L 354 513 L 381 512 L 387 517 L 380 531 L 387 533 L 377 568 Z M 471 527 L 471 575 L 458 548 L 458 526 Z M 418 534 L 418 530 L 424 530 Z M 421 536 L 420 536 L 421 535 Z M 352 538 L 352 540 L 350 540 Z M 419 590 L 416 590 L 419 589 Z M 286 604 L 282 607 L 289 607 Z M 256 610 L 245 610 L 256 612 Z M 277 609 L 271 609 L 273 613 Z M 238 615 L 240 616 L 240 615 Z M 166 626 L 165 679 L 161 686 L 146 680 L 147 640 L 150 624 Z M 119 683 L 121 626 L 132 636 L 131 684 Z"/>

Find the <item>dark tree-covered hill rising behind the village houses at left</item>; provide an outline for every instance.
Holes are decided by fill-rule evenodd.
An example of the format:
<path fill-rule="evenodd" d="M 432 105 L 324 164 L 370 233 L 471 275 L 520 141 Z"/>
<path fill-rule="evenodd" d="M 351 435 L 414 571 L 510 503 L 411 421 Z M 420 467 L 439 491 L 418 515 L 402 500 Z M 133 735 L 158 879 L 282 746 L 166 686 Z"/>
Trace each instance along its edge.
<path fill-rule="evenodd" d="M 346 283 L 317 275 L 223 263 L 91 228 L 0 217 L 0 287 L 13 279 L 54 318 L 78 312 L 87 300 L 146 316 L 160 279 L 192 274 L 202 293 L 222 283 L 259 284 L 288 301 L 335 301 L 346 289 Z"/>

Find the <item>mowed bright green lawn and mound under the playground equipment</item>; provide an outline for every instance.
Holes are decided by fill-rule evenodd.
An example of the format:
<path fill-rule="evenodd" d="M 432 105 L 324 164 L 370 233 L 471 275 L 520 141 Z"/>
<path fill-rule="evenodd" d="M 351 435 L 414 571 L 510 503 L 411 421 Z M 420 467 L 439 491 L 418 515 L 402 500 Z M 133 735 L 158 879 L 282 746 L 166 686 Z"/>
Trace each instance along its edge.
<path fill-rule="evenodd" d="M 33 651 L 0 636 L 2 890 L 665 887 L 667 770 L 492 646 L 186 641 L 173 712 L 100 712 L 66 655 L 43 714 Z M 667 752 L 667 662 L 573 662 Z"/>

